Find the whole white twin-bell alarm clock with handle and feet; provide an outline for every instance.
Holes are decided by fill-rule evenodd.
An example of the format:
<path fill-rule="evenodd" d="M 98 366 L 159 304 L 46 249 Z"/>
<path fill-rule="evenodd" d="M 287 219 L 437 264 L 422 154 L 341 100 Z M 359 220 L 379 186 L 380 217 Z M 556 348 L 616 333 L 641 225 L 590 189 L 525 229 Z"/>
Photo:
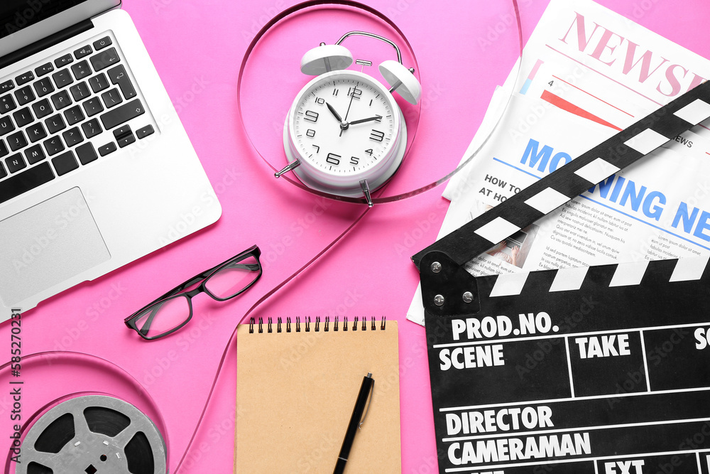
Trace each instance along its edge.
<path fill-rule="evenodd" d="M 349 36 L 367 36 L 395 48 L 398 60 L 379 70 L 390 87 L 371 75 L 346 70 L 350 51 L 341 43 Z M 407 126 L 392 95 L 417 104 L 422 88 L 414 70 L 402 64 L 395 43 L 364 31 L 346 33 L 334 45 L 321 43 L 301 60 L 301 72 L 315 75 L 296 95 L 283 126 L 288 164 L 278 178 L 293 171 L 307 187 L 339 196 L 364 196 L 386 183 L 399 168 L 407 146 Z"/>

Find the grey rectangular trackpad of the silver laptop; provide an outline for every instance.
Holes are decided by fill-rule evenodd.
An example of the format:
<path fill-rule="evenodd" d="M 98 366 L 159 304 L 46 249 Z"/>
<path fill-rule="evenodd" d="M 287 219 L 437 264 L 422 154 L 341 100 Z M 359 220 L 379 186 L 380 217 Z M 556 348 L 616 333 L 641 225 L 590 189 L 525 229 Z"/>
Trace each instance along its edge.
<path fill-rule="evenodd" d="M 111 257 L 79 188 L 0 221 L 0 242 L 0 298 L 6 306 Z"/>

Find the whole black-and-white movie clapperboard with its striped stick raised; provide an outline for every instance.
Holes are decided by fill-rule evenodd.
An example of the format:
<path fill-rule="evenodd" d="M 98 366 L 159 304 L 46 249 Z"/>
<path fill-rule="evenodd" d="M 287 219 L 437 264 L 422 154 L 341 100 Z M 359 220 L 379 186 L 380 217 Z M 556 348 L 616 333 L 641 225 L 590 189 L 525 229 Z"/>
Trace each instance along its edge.
<path fill-rule="evenodd" d="M 413 257 L 439 472 L 710 474 L 708 259 L 463 267 L 708 117 L 705 82 Z"/>

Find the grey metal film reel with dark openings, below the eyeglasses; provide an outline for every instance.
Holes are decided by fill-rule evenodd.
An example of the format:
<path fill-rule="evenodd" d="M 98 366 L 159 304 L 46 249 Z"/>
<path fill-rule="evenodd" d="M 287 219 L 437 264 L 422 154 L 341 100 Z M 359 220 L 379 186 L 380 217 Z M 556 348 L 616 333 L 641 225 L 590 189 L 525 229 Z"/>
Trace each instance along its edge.
<path fill-rule="evenodd" d="M 35 421 L 16 474 L 166 474 L 167 447 L 153 421 L 106 395 L 68 399 Z"/>

